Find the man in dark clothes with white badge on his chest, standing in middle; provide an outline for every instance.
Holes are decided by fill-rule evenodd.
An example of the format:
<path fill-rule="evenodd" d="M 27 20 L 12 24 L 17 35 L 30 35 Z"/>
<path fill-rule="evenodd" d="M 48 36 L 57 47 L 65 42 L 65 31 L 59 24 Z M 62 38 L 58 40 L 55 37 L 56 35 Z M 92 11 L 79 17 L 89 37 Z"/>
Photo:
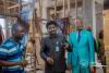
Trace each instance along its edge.
<path fill-rule="evenodd" d="M 57 23 L 47 23 L 48 37 L 43 38 L 40 56 L 45 60 L 45 73 L 65 73 L 65 50 L 69 44 L 62 35 L 57 34 Z"/>

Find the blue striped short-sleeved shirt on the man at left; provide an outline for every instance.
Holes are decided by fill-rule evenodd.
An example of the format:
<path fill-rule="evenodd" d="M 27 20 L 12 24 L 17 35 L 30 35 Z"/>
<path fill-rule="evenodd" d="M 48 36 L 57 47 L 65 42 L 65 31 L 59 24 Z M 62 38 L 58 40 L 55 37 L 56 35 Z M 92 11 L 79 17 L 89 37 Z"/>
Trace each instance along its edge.
<path fill-rule="evenodd" d="M 15 42 L 13 39 L 9 38 L 0 46 L 0 59 L 5 61 L 19 62 L 23 59 L 23 51 L 24 45 L 21 41 Z M 7 71 L 9 73 L 22 70 L 23 68 L 21 65 L 2 66 L 2 71 Z"/>

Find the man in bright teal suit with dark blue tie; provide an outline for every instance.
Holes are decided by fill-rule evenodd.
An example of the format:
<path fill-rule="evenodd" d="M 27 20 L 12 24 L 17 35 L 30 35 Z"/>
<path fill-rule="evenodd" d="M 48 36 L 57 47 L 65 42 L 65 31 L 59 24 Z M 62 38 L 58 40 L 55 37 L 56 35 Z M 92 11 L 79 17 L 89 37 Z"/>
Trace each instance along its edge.
<path fill-rule="evenodd" d="M 72 73 L 90 73 L 95 64 L 93 34 L 83 29 L 81 20 L 75 20 L 74 23 L 76 31 L 69 37 L 72 52 L 68 53 L 68 68 L 72 66 Z"/>

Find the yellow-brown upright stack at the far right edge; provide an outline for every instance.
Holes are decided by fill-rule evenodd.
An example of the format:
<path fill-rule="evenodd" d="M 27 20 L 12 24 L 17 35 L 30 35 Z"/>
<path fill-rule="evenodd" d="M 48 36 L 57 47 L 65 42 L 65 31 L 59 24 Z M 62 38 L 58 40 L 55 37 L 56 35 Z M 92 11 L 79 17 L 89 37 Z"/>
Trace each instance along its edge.
<path fill-rule="evenodd" d="M 105 10 L 105 25 L 104 25 L 104 36 L 105 36 L 105 53 L 106 62 L 109 65 L 109 10 Z M 109 73 L 109 66 L 107 66 L 107 73 Z"/>

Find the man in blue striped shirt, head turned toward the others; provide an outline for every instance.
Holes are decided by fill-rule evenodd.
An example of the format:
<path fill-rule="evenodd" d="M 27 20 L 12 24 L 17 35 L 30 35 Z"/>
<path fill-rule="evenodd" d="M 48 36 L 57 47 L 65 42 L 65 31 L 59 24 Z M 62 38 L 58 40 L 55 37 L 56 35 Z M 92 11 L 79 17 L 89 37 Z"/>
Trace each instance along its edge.
<path fill-rule="evenodd" d="M 12 37 L 0 46 L 0 64 L 3 73 L 25 73 L 23 61 L 24 45 L 21 42 L 24 36 L 24 27 L 20 24 L 12 26 Z"/>

